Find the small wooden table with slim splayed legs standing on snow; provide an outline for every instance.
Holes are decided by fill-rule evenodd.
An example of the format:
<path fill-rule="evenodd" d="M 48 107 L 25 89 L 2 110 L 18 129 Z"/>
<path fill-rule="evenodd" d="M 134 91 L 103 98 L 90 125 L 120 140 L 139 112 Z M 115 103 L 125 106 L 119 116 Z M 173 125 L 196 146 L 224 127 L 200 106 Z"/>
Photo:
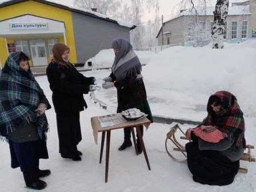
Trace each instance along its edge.
<path fill-rule="evenodd" d="M 149 167 L 149 170 L 151 170 L 150 168 L 150 163 L 149 163 L 149 158 L 147 157 L 147 152 L 145 149 L 145 145 L 143 142 L 143 138 L 142 138 L 142 133 L 141 130 L 139 129 L 140 126 L 149 126 L 150 125 L 150 121 L 147 118 L 143 118 L 143 119 L 139 119 L 137 121 L 129 121 L 126 123 L 119 123 L 118 125 L 114 125 L 114 126 L 109 126 L 109 127 L 101 127 L 101 123 L 99 122 L 98 117 L 92 117 L 91 118 L 91 126 L 93 127 L 93 129 L 95 127 L 97 127 L 98 132 L 102 132 L 102 138 L 101 138 L 101 154 L 99 156 L 99 163 L 102 162 L 102 154 L 103 154 L 103 148 L 104 148 L 104 143 L 105 143 L 105 134 L 107 132 L 107 146 L 106 146 L 106 167 L 105 167 L 105 182 L 107 182 L 107 177 L 109 175 L 109 149 L 110 149 L 110 134 L 111 134 L 111 130 L 115 130 L 115 129 L 131 129 L 131 134 L 133 135 L 133 142 L 134 142 L 134 146 L 135 146 L 135 152 L 138 155 L 138 150 L 137 150 L 137 145 L 136 145 L 136 139 L 135 139 L 135 133 L 134 133 L 134 127 L 136 128 L 137 134 L 138 134 L 138 138 L 139 141 L 141 142 L 141 147 L 142 147 L 142 151 L 143 154 L 145 156 L 146 162 L 147 162 L 147 167 Z"/>

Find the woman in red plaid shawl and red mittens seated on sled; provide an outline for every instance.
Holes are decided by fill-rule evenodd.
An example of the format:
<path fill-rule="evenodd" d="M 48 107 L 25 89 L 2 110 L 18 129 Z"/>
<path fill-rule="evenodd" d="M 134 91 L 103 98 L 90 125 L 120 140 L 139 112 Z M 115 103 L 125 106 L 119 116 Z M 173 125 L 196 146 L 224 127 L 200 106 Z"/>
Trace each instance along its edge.
<path fill-rule="evenodd" d="M 245 121 L 237 98 L 227 91 L 211 95 L 207 117 L 188 129 L 187 165 L 193 180 L 208 185 L 229 185 L 239 169 L 246 147 Z"/>

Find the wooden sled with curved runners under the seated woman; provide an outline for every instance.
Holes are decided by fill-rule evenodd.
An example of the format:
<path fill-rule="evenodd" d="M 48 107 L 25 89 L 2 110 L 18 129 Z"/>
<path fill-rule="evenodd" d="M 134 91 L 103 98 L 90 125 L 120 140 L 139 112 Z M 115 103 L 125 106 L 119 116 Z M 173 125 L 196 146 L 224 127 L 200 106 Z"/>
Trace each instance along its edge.
<path fill-rule="evenodd" d="M 175 134 L 177 134 L 177 130 L 179 130 L 181 133 L 181 137 L 179 137 L 179 139 L 182 139 L 183 141 L 184 140 L 187 140 L 189 141 L 185 136 L 185 133 L 182 131 L 181 127 L 179 127 L 179 125 L 175 125 L 173 127 L 171 127 L 171 130 L 167 133 L 166 135 L 166 140 L 165 140 L 165 149 L 166 149 L 166 152 L 167 154 L 174 160 L 174 161 L 177 161 L 177 162 L 184 162 L 186 159 L 187 159 L 187 156 L 186 156 L 186 149 L 185 149 L 185 145 L 182 145 L 180 142 L 178 142 L 177 138 L 175 137 Z M 171 147 L 172 151 L 169 149 L 168 147 L 168 141 L 171 141 L 171 143 L 173 143 L 173 147 Z M 254 149 L 254 146 L 252 145 L 246 145 L 246 151 L 247 153 L 243 153 L 242 157 L 240 160 L 242 161 L 247 161 L 247 162 L 255 162 L 255 158 L 253 158 L 251 156 L 251 149 Z M 171 151 L 171 152 L 170 152 Z M 181 155 L 178 155 L 178 157 L 175 157 L 175 154 L 174 152 L 175 151 L 178 151 L 178 152 L 181 152 L 183 155 L 182 157 L 180 157 Z M 181 154 L 179 153 L 179 154 Z M 239 173 L 247 173 L 248 170 L 246 168 L 242 168 L 242 167 L 239 167 L 239 170 L 238 170 Z"/>

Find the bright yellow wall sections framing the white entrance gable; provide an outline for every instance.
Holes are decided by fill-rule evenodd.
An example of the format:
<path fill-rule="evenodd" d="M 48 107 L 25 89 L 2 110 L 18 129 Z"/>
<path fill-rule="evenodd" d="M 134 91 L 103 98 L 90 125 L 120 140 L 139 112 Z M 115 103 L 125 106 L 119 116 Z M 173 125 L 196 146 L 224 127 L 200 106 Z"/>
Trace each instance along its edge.
<path fill-rule="evenodd" d="M 45 17 L 50 19 L 57 19 L 65 22 L 66 26 L 66 41 L 70 47 L 70 61 L 77 63 L 77 53 L 75 49 L 74 32 L 73 32 L 73 19 L 71 11 L 60 9 L 58 7 L 45 5 L 36 1 L 26 1 L 16 3 L 0 8 L 0 21 L 12 17 L 17 17 L 24 14 L 33 14 L 39 17 Z M 0 60 L 3 64 L 7 59 L 7 50 L 5 39 L 0 37 Z"/>

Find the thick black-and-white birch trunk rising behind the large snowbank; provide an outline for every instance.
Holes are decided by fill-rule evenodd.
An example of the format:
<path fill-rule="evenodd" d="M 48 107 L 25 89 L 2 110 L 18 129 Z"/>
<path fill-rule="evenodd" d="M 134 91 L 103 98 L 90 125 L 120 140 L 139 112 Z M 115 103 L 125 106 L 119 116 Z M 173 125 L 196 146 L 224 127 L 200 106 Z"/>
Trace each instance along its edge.
<path fill-rule="evenodd" d="M 225 31 L 225 21 L 229 9 L 229 0 L 217 0 L 214 13 L 214 27 L 211 31 L 213 39 L 213 49 L 223 49 L 223 35 Z"/>

